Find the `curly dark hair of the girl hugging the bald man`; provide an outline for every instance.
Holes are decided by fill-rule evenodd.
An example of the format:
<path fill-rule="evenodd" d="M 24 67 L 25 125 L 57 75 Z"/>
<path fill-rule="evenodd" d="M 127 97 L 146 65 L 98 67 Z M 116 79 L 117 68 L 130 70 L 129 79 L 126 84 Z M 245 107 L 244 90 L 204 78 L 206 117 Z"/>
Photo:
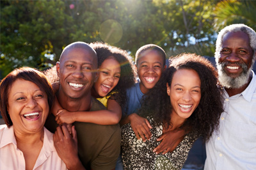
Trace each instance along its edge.
<path fill-rule="evenodd" d="M 126 90 L 131 88 L 135 82 L 135 71 L 132 60 L 129 54 L 118 47 L 114 47 L 102 42 L 90 43 L 90 46 L 96 51 L 98 56 L 98 68 L 102 65 L 105 59 L 115 59 L 120 64 L 121 73 L 118 84 L 109 91 L 108 95 L 111 95 L 111 99 L 116 100 L 122 108 L 124 108 L 126 102 Z M 117 93 L 113 93 L 113 91 Z"/>

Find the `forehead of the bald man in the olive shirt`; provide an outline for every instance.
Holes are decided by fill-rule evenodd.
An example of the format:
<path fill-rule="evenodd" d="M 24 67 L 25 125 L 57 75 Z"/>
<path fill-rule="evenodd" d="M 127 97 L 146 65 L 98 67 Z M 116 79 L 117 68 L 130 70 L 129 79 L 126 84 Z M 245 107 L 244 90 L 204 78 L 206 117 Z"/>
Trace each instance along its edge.
<path fill-rule="evenodd" d="M 97 56 L 92 51 L 83 48 L 67 49 L 61 56 L 61 63 L 88 63 L 97 67 Z"/>

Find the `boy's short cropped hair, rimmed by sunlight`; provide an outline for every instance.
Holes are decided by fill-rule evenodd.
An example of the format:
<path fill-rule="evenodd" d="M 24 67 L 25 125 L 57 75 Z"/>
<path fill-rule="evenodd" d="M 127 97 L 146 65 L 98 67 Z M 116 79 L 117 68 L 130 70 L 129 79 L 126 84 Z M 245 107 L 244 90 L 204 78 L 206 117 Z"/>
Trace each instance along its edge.
<path fill-rule="evenodd" d="M 158 45 L 155 45 L 155 44 L 143 45 L 142 47 L 140 47 L 140 49 L 137 50 L 137 52 L 135 54 L 135 65 L 137 65 L 138 60 L 141 57 L 141 54 L 143 52 L 145 52 L 146 50 L 156 50 L 159 53 L 159 55 L 163 58 L 163 64 L 166 65 L 166 61 L 165 61 L 166 53 L 164 52 L 164 50 L 161 47 L 159 47 Z"/>

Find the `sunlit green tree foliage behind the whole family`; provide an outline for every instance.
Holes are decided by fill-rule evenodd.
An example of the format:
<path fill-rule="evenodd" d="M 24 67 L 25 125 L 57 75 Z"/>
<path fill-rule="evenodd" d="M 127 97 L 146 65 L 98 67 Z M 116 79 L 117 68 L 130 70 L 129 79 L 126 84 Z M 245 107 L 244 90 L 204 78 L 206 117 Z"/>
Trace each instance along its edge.
<path fill-rule="evenodd" d="M 44 70 L 76 41 L 102 41 L 131 52 L 147 43 L 169 56 L 213 56 L 223 27 L 256 30 L 256 1 L 116 0 L 0 1 L 0 78 L 20 66 Z M 74 7 L 74 8 L 73 8 Z"/>

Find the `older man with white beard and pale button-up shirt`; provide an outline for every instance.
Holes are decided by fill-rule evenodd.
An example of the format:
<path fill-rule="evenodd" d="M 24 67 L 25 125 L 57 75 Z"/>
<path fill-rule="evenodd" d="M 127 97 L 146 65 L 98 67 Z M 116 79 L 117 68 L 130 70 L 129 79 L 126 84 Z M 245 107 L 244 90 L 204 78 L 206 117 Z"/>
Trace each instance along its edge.
<path fill-rule="evenodd" d="M 244 24 L 222 29 L 216 65 L 223 86 L 220 129 L 206 144 L 204 169 L 256 169 L 256 33 Z"/>

